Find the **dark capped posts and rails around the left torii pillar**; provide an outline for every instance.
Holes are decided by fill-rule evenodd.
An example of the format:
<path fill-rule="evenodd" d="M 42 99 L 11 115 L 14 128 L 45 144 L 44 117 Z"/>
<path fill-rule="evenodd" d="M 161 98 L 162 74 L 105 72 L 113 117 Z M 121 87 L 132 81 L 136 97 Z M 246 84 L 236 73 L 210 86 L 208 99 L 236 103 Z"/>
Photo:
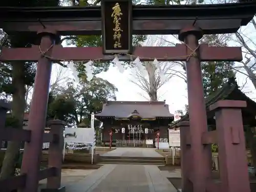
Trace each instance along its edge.
<path fill-rule="evenodd" d="M 10 109 L 10 105 L 0 100 L 0 143 L 3 141 L 20 141 L 29 144 L 31 140 L 31 130 L 15 129 L 13 127 L 5 127 L 6 114 Z M 37 172 L 38 181 L 47 180 L 47 189 L 60 189 L 60 176 L 62 164 L 62 148 L 63 148 L 63 129 L 65 123 L 60 120 L 51 120 L 48 122 L 51 127 L 50 133 L 45 133 L 43 142 L 50 142 L 48 168 L 39 169 Z M 26 145 L 26 144 L 25 144 Z M 41 154 L 40 154 L 41 155 Z M 37 159 L 34 157 L 33 159 Z M 40 159 L 40 157 L 38 157 Z M 23 155 L 22 164 L 28 163 L 31 160 L 30 152 L 26 151 L 26 146 Z M 26 187 L 27 183 L 26 169 L 21 168 L 20 175 L 7 179 L 0 180 L 1 192 L 12 191 Z M 42 189 L 44 190 L 44 189 Z"/>

